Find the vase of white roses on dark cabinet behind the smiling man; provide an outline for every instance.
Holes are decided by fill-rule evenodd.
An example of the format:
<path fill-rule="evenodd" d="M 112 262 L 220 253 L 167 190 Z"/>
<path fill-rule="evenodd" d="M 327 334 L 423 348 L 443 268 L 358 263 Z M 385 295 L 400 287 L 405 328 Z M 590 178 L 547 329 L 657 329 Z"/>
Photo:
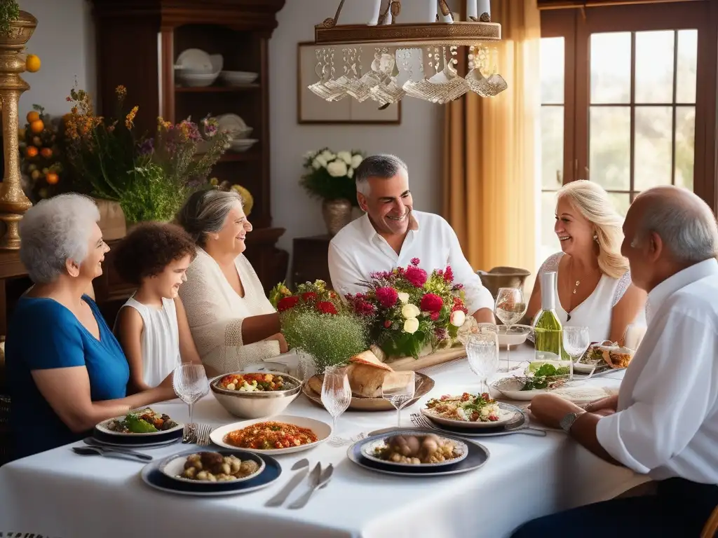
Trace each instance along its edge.
<path fill-rule="evenodd" d="M 353 177 L 363 160 L 360 151 L 334 153 L 329 148 L 309 151 L 304 156 L 300 184 L 310 196 L 322 200 L 322 217 L 331 235 L 351 222 L 352 207 L 358 206 Z"/>

